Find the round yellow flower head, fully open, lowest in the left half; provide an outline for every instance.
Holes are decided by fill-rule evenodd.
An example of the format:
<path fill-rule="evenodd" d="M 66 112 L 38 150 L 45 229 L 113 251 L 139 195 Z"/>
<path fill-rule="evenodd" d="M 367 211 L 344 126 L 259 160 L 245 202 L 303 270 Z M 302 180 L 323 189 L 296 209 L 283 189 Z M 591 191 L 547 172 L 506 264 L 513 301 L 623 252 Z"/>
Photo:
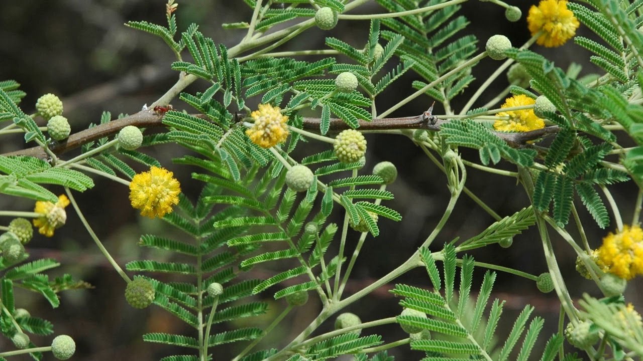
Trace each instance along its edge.
<path fill-rule="evenodd" d="M 129 184 L 132 207 L 150 218 L 172 213 L 172 206 L 179 202 L 180 193 L 179 181 L 165 168 L 152 167 L 149 172 L 138 173 Z"/>

